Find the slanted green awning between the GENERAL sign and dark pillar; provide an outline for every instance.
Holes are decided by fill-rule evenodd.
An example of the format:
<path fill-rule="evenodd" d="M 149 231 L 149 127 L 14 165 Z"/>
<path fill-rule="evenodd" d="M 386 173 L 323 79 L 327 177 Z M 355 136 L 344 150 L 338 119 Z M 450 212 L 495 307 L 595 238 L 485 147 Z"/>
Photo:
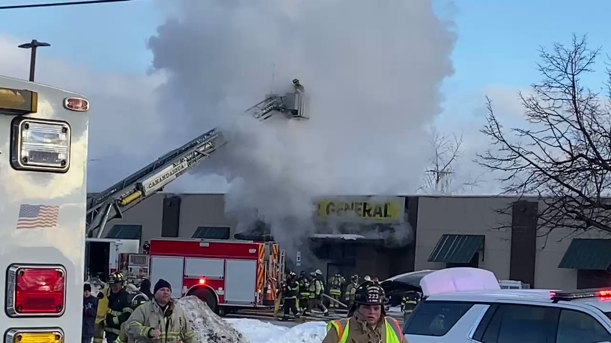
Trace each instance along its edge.
<path fill-rule="evenodd" d="M 484 248 L 483 234 L 444 234 L 437 242 L 429 262 L 469 263 Z"/>

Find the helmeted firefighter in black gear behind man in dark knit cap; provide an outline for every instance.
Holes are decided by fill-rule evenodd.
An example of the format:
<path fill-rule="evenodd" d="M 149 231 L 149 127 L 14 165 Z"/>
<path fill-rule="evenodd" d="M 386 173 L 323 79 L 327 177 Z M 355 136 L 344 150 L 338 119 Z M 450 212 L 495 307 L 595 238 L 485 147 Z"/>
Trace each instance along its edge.
<path fill-rule="evenodd" d="M 106 294 L 108 313 L 104 317 L 104 332 L 108 343 L 114 342 L 119 337 L 121 324 L 126 322 L 134 312 L 131 307 L 130 292 L 125 290 L 124 283 L 122 273 L 115 272 L 108 277 L 108 284 L 110 284 Z"/>

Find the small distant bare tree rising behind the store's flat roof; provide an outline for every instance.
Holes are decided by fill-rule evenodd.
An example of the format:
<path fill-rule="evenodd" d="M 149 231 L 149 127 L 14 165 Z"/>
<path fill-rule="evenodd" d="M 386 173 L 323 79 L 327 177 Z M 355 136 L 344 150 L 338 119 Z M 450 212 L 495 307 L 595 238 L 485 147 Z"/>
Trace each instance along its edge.
<path fill-rule="evenodd" d="M 431 126 L 431 146 L 433 157 L 425 170 L 424 185 L 419 190 L 427 193 L 452 194 L 466 187 L 476 187 L 475 181 L 459 183 L 455 186 L 455 167 L 463 157 L 463 135 L 442 135 Z"/>

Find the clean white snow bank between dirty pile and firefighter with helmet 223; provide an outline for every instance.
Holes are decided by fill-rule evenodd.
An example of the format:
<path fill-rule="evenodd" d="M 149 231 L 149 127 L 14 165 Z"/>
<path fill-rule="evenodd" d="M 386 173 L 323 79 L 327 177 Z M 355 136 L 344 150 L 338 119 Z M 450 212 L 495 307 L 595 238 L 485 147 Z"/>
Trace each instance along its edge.
<path fill-rule="evenodd" d="M 257 319 L 225 319 L 251 343 L 320 343 L 326 335 L 325 322 L 307 322 L 280 327 Z"/>

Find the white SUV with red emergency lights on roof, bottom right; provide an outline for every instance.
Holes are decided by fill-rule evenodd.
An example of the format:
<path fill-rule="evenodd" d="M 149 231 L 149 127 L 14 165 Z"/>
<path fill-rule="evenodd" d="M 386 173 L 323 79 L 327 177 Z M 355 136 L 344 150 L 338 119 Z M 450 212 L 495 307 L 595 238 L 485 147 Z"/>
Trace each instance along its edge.
<path fill-rule="evenodd" d="M 500 289 L 487 270 L 434 274 L 445 275 L 420 281 L 428 296 L 404 325 L 409 343 L 611 343 L 609 289 Z"/>

